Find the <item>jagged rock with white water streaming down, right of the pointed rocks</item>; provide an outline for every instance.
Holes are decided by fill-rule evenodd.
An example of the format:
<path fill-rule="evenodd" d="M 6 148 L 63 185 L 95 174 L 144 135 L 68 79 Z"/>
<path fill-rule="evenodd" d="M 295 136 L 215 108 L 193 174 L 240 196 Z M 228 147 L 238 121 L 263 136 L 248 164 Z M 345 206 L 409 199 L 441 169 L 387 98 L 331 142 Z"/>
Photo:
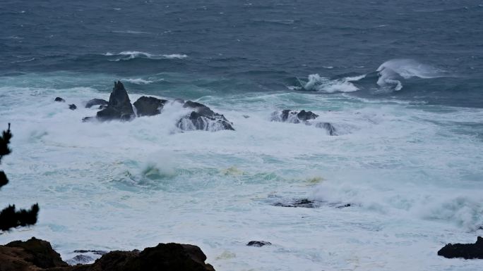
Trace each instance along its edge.
<path fill-rule="evenodd" d="M 194 101 L 186 101 L 183 104 L 184 108 L 192 108 L 193 111 L 181 118 L 177 126 L 181 130 L 205 130 L 205 131 L 220 131 L 220 130 L 234 130 L 232 122 L 229 122 L 224 115 L 213 112 L 208 106 Z"/>

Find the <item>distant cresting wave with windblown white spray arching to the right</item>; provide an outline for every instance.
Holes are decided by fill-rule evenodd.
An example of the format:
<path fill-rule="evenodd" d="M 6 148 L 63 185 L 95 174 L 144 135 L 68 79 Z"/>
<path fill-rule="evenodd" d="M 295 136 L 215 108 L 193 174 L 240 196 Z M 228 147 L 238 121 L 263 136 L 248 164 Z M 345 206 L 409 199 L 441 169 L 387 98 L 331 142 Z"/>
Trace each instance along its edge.
<path fill-rule="evenodd" d="M 443 71 L 431 65 L 419 63 L 412 59 L 391 59 L 377 68 L 380 87 L 394 87 L 396 91 L 403 89 L 400 79 L 411 77 L 435 78 L 443 76 Z"/>

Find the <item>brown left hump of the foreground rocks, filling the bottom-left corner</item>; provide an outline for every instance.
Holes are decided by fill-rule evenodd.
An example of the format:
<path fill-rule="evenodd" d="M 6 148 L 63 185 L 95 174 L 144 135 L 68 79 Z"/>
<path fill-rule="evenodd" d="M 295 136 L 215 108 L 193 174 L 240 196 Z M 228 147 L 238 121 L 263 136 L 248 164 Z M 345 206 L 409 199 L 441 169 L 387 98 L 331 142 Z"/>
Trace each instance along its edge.
<path fill-rule="evenodd" d="M 13 241 L 0 246 L 0 270 L 23 271 L 66 267 L 59 253 L 49 242 L 32 237 L 28 241 Z"/>

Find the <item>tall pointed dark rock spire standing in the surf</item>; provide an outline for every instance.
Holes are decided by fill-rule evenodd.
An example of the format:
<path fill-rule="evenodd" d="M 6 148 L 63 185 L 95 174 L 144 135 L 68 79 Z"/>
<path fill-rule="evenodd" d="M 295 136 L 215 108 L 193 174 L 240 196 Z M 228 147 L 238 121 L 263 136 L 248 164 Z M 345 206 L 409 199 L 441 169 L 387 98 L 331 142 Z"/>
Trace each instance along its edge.
<path fill-rule="evenodd" d="M 134 117 L 133 106 L 129 100 L 124 85 L 118 81 L 114 82 L 114 88 L 109 96 L 107 108 L 97 112 L 98 120 L 131 120 Z"/>

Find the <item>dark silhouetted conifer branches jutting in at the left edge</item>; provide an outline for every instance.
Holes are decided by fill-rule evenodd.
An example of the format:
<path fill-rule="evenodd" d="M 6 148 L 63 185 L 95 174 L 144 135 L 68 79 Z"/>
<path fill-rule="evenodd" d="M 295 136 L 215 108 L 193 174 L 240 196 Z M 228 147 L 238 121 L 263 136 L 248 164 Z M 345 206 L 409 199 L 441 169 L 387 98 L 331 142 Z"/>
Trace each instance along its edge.
<path fill-rule="evenodd" d="M 11 153 L 8 147 L 12 133 L 10 132 L 10 123 L 8 123 L 8 130 L 2 132 L 0 137 L 0 163 L 4 156 Z M 8 184 L 8 178 L 3 170 L 0 170 L 0 188 Z M 35 203 L 30 210 L 20 209 L 16 210 L 15 205 L 9 205 L 0 211 L 0 231 L 8 231 L 14 227 L 25 227 L 34 225 L 37 222 L 37 214 L 39 213 L 39 205 Z"/>

